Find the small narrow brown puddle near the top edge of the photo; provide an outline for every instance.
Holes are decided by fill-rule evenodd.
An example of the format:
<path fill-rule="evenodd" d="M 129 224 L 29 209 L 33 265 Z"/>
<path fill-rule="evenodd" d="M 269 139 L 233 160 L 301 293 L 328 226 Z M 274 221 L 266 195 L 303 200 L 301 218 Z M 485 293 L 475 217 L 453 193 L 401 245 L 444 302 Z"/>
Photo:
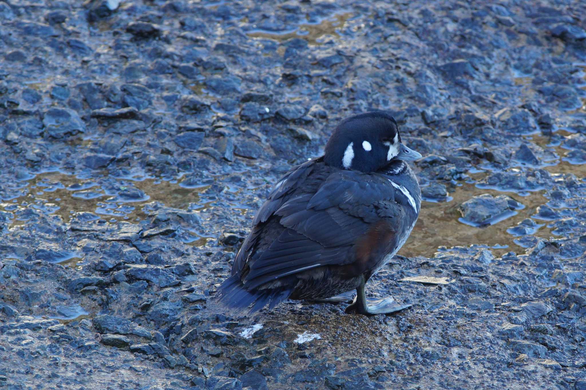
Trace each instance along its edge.
<path fill-rule="evenodd" d="M 247 35 L 251 38 L 268 38 L 280 42 L 290 38 L 303 38 L 309 45 L 318 45 L 320 38 L 325 35 L 339 37 L 338 29 L 343 28 L 344 24 L 352 18 L 354 13 L 338 13 L 330 18 L 323 19 L 319 23 L 301 23 L 297 28 L 285 32 L 272 32 L 266 30 L 252 30 Z"/>

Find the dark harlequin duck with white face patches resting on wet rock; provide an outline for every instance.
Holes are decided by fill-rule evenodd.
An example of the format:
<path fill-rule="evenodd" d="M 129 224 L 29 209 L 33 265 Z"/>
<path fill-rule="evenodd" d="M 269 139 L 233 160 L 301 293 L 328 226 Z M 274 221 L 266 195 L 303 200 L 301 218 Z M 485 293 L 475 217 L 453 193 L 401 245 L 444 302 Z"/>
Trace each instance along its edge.
<path fill-rule="evenodd" d="M 357 291 L 346 312 L 396 311 L 391 297 L 368 305 L 364 284 L 405 243 L 421 207 L 401 143 L 380 111 L 343 120 L 322 157 L 297 165 L 272 189 L 217 299 L 249 313 L 285 299 L 323 300 Z"/>

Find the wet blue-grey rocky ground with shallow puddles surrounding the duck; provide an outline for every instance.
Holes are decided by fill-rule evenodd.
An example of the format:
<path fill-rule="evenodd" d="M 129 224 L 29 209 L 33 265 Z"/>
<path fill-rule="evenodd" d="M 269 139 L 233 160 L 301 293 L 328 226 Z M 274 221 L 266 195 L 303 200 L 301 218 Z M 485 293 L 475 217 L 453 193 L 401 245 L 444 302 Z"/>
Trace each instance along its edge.
<path fill-rule="evenodd" d="M 0 1 L 0 387 L 586 389 L 584 15 Z M 372 109 L 424 155 L 367 286 L 412 306 L 214 306 L 271 185 Z"/>

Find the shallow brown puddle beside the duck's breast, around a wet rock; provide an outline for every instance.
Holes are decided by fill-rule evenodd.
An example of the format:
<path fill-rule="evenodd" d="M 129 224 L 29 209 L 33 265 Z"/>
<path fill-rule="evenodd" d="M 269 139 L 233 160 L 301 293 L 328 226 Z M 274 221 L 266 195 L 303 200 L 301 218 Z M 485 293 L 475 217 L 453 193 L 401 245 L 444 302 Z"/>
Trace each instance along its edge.
<path fill-rule="evenodd" d="M 517 253 L 525 253 L 524 247 L 515 242 L 519 237 L 510 235 L 506 230 L 511 226 L 516 226 L 523 219 L 530 218 L 535 214 L 537 206 L 548 202 L 548 199 L 542 195 L 543 190 L 530 192 L 527 196 L 520 196 L 515 192 L 477 188 L 474 183 L 462 183 L 462 186 L 456 186 L 452 191 L 449 195 L 454 200 L 451 202 L 421 203 L 419 219 L 407 242 L 399 250 L 399 255 L 433 257 L 434 253 L 438 252 L 437 248 L 442 245 L 452 247 L 472 244 L 491 247 L 492 253 L 496 257 L 500 257 L 511 250 Z M 458 206 L 473 196 L 482 194 L 508 195 L 525 207 L 516 210 L 515 215 L 509 215 L 506 219 L 502 219 L 500 222 L 485 228 L 474 228 L 459 222 L 458 219 L 461 217 L 461 213 L 458 211 Z M 537 228 L 534 235 L 546 239 L 553 236 L 547 225 Z"/>

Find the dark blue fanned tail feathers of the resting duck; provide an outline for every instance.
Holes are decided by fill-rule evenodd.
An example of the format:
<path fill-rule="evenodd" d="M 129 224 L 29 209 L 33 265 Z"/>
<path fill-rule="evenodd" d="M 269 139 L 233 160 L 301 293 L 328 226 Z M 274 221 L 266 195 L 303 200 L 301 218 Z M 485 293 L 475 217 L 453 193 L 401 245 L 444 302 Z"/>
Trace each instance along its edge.
<path fill-rule="evenodd" d="M 216 301 L 222 306 L 233 310 L 244 310 L 254 303 L 248 314 L 256 313 L 269 304 L 272 309 L 285 299 L 288 299 L 292 289 L 277 287 L 275 289 L 247 290 L 238 275 L 230 276 L 218 288 Z"/>

